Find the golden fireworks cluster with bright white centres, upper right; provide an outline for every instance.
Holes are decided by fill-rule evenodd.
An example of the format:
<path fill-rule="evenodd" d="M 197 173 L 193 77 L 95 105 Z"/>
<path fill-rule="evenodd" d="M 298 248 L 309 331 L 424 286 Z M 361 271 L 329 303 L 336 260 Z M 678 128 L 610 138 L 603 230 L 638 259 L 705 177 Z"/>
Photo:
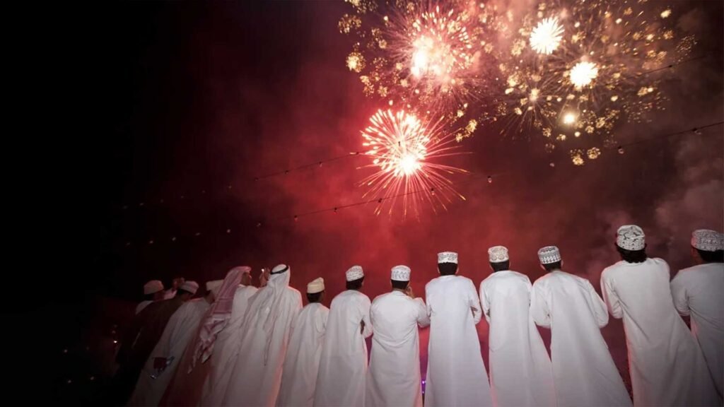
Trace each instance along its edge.
<path fill-rule="evenodd" d="M 502 119 L 501 133 L 542 135 L 547 151 L 569 144 L 583 164 L 616 145 L 620 120 L 647 121 L 665 109 L 666 74 L 647 72 L 681 61 L 695 43 L 674 16 L 646 0 L 547 0 L 494 14 L 504 85 L 489 114 Z"/>

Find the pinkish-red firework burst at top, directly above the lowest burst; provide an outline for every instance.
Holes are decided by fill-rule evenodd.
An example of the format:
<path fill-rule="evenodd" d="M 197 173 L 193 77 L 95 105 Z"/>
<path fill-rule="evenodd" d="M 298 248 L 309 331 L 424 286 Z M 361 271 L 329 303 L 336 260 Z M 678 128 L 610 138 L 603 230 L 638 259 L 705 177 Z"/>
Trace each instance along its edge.
<path fill-rule="evenodd" d="M 490 87 L 494 64 L 484 55 L 492 30 L 480 24 L 484 9 L 466 0 L 370 4 L 340 20 L 340 32 L 355 40 L 348 68 L 359 73 L 366 96 L 456 119 Z"/>

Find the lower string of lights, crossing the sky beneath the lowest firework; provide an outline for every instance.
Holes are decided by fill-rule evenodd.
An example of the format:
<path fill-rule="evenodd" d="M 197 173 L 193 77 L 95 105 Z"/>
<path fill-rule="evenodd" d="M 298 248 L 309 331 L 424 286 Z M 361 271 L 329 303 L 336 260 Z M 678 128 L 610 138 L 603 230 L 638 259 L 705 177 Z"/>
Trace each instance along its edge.
<path fill-rule="evenodd" d="M 720 120 L 718 122 L 711 122 L 706 125 L 691 127 L 686 130 L 678 130 L 678 131 L 670 132 L 670 133 L 662 133 L 660 135 L 656 135 L 656 136 L 650 137 L 650 138 L 641 138 L 639 140 L 633 140 L 628 143 L 621 143 L 618 146 L 610 147 L 610 149 L 618 150 L 618 154 L 621 155 L 621 154 L 626 153 L 626 148 L 638 146 L 642 143 L 652 143 L 654 141 L 660 142 L 663 140 L 668 140 L 669 138 L 672 138 L 675 136 L 693 133 L 695 135 L 700 135 L 702 137 L 708 137 L 710 135 L 716 135 L 716 134 L 720 134 L 720 133 L 717 133 L 717 132 L 705 133 L 704 130 L 711 129 L 713 127 L 718 127 L 721 125 L 724 125 L 724 120 Z M 565 160 L 564 162 L 570 163 L 571 161 Z M 556 166 L 556 162 L 550 161 L 550 167 L 555 167 L 555 166 Z M 502 171 L 502 172 L 492 172 L 489 174 L 476 173 L 476 174 L 471 175 L 470 177 L 467 177 L 465 180 L 460 180 L 458 182 L 454 182 L 454 185 L 464 185 L 464 184 L 468 184 L 468 183 L 472 183 L 472 182 L 479 182 L 481 180 L 485 180 L 487 183 L 492 184 L 494 182 L 494 180 L 500 180 L 500 177 L 503 177 L 512 171 L 513 170 Z M 400 193 L 400 194 L 396 194 L 393 196 L 387 196 L 385 198 L 366 199 L 366 200 L 362 200 L 362 201 L 353 202 L 351 204 L 340 204 L 340 205 L 336 205 L 336 206 L 328 206 L 328 207 L 321 208 L 321 209 L 314 209 L 311 211 L 300 212 L 298 214 L 282 215 L 279 217 L 268 217 L 266 219 L 259 219 L 256 222 L 256 227 L 266 227 L 272 223 L 288 221 L 288 220 L 293 220 L 295 222 L 298 222 L 298 220 L 303 217 L 311 217 L 314 215 L 319 215 L 319 214 L 324 214 L 324 213 L 329 213 L 329 212 L 331 212 L 333 214 L 337 214 L 337 212 L 341 211 L 342 209 L 350 209 L 350 208 L 354 208 L 357 206 L 364 206 L 364 205 L 368 205 L 368 204 L 379 205 L 389 199 L 400 198 L 405 195 L 412 195 L 412 194 L 424 193 L 424 192 L 425 193 L 434 192 L 434 190 L 431 190 L 431 191 L 422 190 L 422 189 L 408 190 L 405 193 Z M 181 235 L 181 234 L 170 235 L 167 238 L 164 238 L 161 240 L 156 239 L 156 238 L 149 238 L 149 239 L 143 241 L 141 244 L 146 245 L 146 246 L 153 246 L 154 244 L 158 244 L 161 242 L 177 243 L 180 238 L 198 239 L 198 238 L 201 238 L 202 236 L 208 236 L 208 235 L 232 235 L 233 232 L 234 231 L 231 228 L 214 228 L 213 230 L 206 230 L 203 232 L 195 231 L 195 232 L 191 232 L 191 233 L 188 233 L 185 235 Z M 128 248 L 130 246 L 133 246 L 132 242 L 130 242 L 130 241 L 125 242 L 126 248 Z"/>

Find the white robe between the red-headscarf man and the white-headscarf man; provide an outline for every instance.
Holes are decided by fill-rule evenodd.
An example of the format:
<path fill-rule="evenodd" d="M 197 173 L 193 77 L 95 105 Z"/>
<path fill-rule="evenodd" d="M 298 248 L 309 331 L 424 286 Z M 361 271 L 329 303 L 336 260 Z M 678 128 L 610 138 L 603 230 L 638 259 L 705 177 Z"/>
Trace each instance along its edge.
<path fill-rule="evenodd" d="M 232 356 L 235 356 L 239 351 L 241 337 L 244 332 L 241 325 L 248 308 L 249 298 L 256 291 L 257 288 L 251 285 L 239 285 L 236 289 L 229 323 L 216 336 L 214 353 L 211 353 L 211 358 L 206 362 L 211 364 L 211 369 L 209 369 L 209 375 L 203 382 L 199 406 L 220 406 L 224 400 L 236 361 Z"/>

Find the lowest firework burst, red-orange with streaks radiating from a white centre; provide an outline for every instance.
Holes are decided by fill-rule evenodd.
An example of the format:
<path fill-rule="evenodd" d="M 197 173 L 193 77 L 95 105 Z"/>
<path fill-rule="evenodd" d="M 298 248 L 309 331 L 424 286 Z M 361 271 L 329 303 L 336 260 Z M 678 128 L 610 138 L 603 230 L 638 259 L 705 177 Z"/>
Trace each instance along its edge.
<path fill-rule="evenodd" d="M 402 198 L 403 215 L 408 210 L 417 215 L 424 201 L 434 210 L 453 198 L 465 199 L 452 188 L 447 175 L 464 173 L 464 169 L 432 162 L 450 156 L 456 146 L 454 138 L 443 133 L 443 119 L 428 122 L 403 110 L 379 110 L 362 132 L 365 154 L 374 158 L 371 166 L 377 172 L 366 177 L 361 185 L 369 187 L 365 197 L 379 199 L 376 214 L 387 207 L 392 214 L 396 198 Z M 389 205 L 388 205 L 389 204 Z"/>

